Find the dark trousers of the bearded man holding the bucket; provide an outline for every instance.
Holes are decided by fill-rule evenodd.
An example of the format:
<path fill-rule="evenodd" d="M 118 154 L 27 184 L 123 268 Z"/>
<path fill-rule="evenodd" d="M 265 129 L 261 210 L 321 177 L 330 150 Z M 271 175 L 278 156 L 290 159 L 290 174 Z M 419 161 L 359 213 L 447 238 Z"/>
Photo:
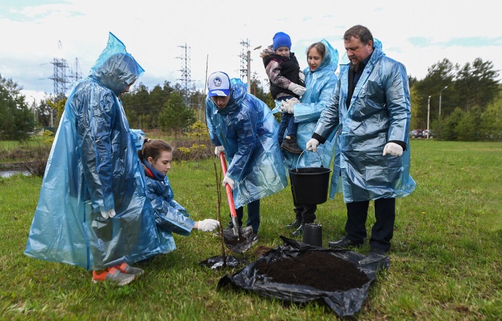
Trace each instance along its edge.
<path fill-rule="evenodd" d="M 388 251 L 394 233 L 396 219 L 396 199 L 378 199 L 374 201 L 376 222 L 371 228 L 369 245 Z M 366 237 L 366 217 L 369 201 L 347 203 L 347 223 L 345 232 L 352 242 L 362 242 Z"/>

